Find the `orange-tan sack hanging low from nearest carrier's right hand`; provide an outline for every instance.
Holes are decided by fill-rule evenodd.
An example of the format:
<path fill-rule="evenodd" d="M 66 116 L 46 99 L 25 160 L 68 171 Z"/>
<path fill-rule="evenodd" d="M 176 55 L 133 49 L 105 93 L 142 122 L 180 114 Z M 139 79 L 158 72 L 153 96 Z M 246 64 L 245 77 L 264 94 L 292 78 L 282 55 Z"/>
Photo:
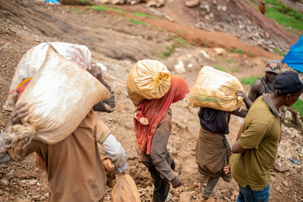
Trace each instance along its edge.
<path fill-rule="evenodd" d="M 105 174 L 109 177 L 110 170 L 114 167 L 107 156 L 103 157 L 102 163 L 105 169 Z M 112 188 L 111 201 L 112 202 L 140 202 L 139 192 L 135 181 L 130 175 L 115 174 L 116 183 Z"/>

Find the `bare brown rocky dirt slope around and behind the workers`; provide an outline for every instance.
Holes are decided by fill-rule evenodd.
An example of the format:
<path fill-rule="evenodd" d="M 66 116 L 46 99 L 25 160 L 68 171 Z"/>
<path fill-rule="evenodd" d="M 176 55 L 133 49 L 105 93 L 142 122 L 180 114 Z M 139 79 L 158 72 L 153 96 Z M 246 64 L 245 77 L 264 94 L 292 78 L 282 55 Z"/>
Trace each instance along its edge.
<path fill-rule="evenodd" d="M 158 59 L 168 66 L 172 74 L 179 74 L 185 78 L 191 87 L 201 64 L 217 65 L 238 78 L 245 78 L 263 75 L 264 64 L 269 59 L 282 59 L 280 55 L 272 54 L 261 47 L 251 46 L 244 43 L 245 40 L 241 41 L 236 36 L 223 33 L 224 30 L 223 32 L 210 31 L 211 25 L 216 24 L 215 21 L 212 21 L 213 24 L 209 24 L 204 30 L 188 26 L 196 24 L 196 21 L 190 21 L 194 16 L 191 11 L 195 11 L 188 9 L 203 11 L 205 8 L 188 8 L 184 2 L 181 2 L 182 4 L 180 2 L 168 1 L 160 9 L 161 12 L 174 18 L 174 21 L 170 22 L 167 19 L 134 17 L 131 14 L 123 14 L 122 18 L 119 17 L 122 15 L 120 13 L 96 12 L 81 6 L 55 6 L 30 0 L 1 1 L 0 128 L 6 127 L 10 122 L 10 111 L 3 109 L 3 104 L 8 95 L 15 67 L 28 46 L 38 45 L 45 41 L 65 41 L 86 45 L 92 51 L 93 61 L 102 62 L 108 67 L 104 77 L 114 89 L 116 96 L 115 112 L 98 114 L 125 148 L 128 158 L 127 173 L 135 180 L 142 201 L 149 201 L 152 197 L 152 181 L 135 151 L 135 135 L 131 117 L 134 106 L 127 96 L 125 85 L 128 72 L 135 62 L 146 58 Z M 208 3 L 210 7 L 213 6 L 210 1 L 205 1 L 205 3 Z M 226 5 L 230 9 L 228 4 L 217 1 L 217 10 L 219 5 Z M 71 8 L 78 8 L 81 13 L 73 12 Z M 123 5 L 121 8 L 130 12 L 148 13 L 148 10 L 140 4 Z M 176 8 L 180 8 L 180 16 L 177 13 L 174 14 Z M 185 12 L 190 15 L 183 17 Z M 148 25 L 133 24 L 127 17 L 141 20 Z M 191 24 L 185 23 L 186 21 Z M 234 21 L 233 18 L 232 21 Z M 255 28 L 255 25 L 251 26 Z M 187 40 L 188 45 L 180 45 L 171 51 L 169 57 L 159 58 L 158 54 L 176 43 L 179 36 Z M 201 40 L 207 42 L 208 47 L 197 43 Z M 271 41 L 275 42 L 274 39 Z M 284 43 L 291 45 L 287 40 Z M 230 53 L 226 51 L 229 47 L 239 48 L 244 51 L 244 54 Z M 244 88 L 247 94 L 249 86 L 244 85 Z M 183 101 L 172 105 L 173 125 L 168 149 L 175 159 L 176 172 L 183 183 L 177 189 L 171 188 L 172 201 L 198 201 L 207 182 L 207 178 L 198 173 L 195 164 L 195 144 L 199 130 L 198 109 L 185 108 L 187 98 L 188 95 Z M 242 118 L 235 116 L 231 118 L 230 134 L 227 135 L 230 144 L 235 142 L 242 123 Z M 302 132 L 294 127 L 283 125 L 282 134 L 277 163 L 281 166 L 286 165 L 290 169 L 285 173 L 271 173 L 270 201 L 303 201 L 302 167 L 289 160 L 292 158 L 302 161 Z M 100 147 L 100 154 L 104 154 L 102 147 Z M 110 201 L 110 190 L 111 188 L 108 187 L 105 201 Z M 22 162 L 0 166 L 0 201 L 45 201 L 48 198 L 48 192 L 47 174 L 36 167 L 34 154 Z M 220 179 L 213 194 L 220 201 L 235 201 L 238 194 L 237 183 L 234 180 L 226 183 Z"/>

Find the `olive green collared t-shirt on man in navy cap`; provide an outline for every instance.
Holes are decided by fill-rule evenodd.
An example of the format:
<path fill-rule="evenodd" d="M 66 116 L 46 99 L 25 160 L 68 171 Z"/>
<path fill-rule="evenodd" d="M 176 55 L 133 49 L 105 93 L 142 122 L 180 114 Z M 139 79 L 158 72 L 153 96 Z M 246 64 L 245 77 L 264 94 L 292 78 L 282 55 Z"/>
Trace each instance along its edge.
<path fill-rule="evenodd" d="M 275 163 L 281 132 L 280 113 L 267 96 L 256 99 L 245 117 L 238 144 L 248 150 L 233 154 L 229 161 L 236 182 L 255 191 L 269 183 L 268 171 Z"/>

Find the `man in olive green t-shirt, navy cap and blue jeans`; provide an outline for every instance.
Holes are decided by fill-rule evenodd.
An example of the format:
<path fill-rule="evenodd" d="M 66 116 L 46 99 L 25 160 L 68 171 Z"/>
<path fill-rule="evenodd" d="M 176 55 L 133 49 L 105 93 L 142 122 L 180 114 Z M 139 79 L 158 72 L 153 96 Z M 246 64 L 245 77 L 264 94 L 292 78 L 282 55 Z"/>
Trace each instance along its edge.
<path fill-rule="evenodd" d="M 303 82 L 296 72 L 285 71 L 276 77 L 274 88 L 271 94 L 263 94 L 252 104 L 243 133 L 231 149 L 231 175 L 240 189 L 237 202 L 268 201 L 268 171 L 275 163 L 281 141 L 279 108 L 298 101 Z"/>

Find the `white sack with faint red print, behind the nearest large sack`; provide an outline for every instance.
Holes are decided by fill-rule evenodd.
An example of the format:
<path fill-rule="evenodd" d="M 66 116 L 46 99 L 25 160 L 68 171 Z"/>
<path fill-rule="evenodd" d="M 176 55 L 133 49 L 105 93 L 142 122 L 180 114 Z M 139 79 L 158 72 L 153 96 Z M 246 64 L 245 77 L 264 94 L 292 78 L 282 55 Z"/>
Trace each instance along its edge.
<path fill-rule="evenodd" d="M 41 43 L 29 49 L 19 61 L 12 79 L 11 88 L 9 89 L 6 106 L 14 104 L 17 101 L 16 93 L 17 85 L 25 78 L 35 75 L 43 64 L 48 45 L 51 44 L 55 50 L 65 58 L 77 63 L 81 67 L 87 69 L 88 63 L 92 62 L 92 54 L 84 45 L 70 44 L 64 42 Z"/>

